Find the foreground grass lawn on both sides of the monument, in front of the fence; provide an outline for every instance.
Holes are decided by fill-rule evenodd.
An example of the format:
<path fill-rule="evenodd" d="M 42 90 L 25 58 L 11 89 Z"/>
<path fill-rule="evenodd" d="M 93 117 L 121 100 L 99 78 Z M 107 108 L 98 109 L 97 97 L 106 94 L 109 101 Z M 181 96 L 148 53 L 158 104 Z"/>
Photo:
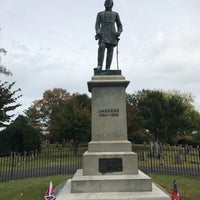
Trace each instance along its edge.
<path fill-rule="evenodd" d="M 171 193 L 173 179 L 176 179 L 181 200 L 200 199 L 200 178 L 150 175 L 153 181 Z M 0 184 L 0 199 L 8 200 L 41 200 L 44 197 L 49 181 L 54 187 L 66 181 L 69 176 L 53 176 L 6 182 Z"/>

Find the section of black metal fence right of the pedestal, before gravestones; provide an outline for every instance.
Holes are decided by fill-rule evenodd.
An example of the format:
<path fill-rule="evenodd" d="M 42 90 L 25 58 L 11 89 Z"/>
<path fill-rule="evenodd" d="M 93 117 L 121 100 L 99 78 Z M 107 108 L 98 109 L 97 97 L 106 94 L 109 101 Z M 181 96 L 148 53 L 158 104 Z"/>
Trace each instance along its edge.
<path fill-rule="evenodd" d="M 151 145 L 133 146 L 138 154 L 139 169 L 145 173 L 200 176 L 199 146 L 170 146 L 153 143 Z"/>

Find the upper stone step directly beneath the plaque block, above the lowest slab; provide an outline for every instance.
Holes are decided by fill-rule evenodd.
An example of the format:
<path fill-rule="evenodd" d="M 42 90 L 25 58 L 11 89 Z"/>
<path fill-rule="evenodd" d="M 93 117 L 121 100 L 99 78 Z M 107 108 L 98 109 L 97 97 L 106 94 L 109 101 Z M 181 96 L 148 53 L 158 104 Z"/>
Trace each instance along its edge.
<path fill-rule="evenodd" d="M 151 178 L 139 171 L 138 175 L 83 176 L 78 170 L 71 180 L 72 193 L 152 191 Z"/>

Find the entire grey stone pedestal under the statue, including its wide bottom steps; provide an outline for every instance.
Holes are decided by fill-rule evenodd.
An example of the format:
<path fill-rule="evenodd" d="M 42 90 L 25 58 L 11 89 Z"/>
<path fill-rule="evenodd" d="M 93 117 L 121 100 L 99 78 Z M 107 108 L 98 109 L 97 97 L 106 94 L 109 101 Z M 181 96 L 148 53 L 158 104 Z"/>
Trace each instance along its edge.
<path fill-rule="evenodd" d="M 57 200 L 170 200 L 138 170 L 137 154 L 127 140 L 128 84 L 120 74 L 98 74 L 88 82 L 92 140 L 83 155 L 83 169 L 63 186 Z"/>

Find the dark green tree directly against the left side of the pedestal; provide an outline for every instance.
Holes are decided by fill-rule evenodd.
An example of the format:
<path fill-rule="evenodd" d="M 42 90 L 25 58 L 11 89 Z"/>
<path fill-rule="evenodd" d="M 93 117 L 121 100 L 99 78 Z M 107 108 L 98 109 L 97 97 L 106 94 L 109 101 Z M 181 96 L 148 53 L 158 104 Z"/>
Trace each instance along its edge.
<path fill-rule="evenodd" d="M 75 94 L 65 102 L 60 119 L 55 124 L 61 139 L 71 142 L 76 149 L 79 143 L 89 142 L 91 136 L 91 100 L 86 94 Z"/>

